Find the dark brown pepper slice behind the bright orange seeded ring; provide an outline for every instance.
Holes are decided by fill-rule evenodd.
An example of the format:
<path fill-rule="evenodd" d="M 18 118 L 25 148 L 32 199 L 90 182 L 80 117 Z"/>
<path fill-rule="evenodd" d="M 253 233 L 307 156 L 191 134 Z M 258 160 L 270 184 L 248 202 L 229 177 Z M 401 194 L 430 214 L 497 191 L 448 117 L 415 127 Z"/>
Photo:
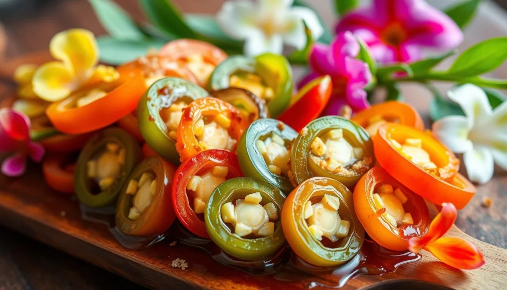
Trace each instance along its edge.
<path fill-rule="evenodd" d="M 232 104 L 245 115 L 249 123 L 260 118 L 267 118 L 269 115 L 264 101 L 248 90 L 229 87 L 212 91 L 209 94 Z"/>

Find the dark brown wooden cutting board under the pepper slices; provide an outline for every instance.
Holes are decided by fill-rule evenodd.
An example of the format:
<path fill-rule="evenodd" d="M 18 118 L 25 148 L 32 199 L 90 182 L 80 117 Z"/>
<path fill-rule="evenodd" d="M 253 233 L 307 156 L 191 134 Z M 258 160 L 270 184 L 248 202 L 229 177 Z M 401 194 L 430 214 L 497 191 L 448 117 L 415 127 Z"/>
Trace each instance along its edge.
<path fill-rule="evenodd" d="M 47 55 L 39 53 L 10 61 L 0 66 L 0 78 L 11 76 L 19 63 L 40 63 L 47 59 Z M 12 87 L 5 88 L 4 85 L 4 91 L 9 90 Z M 74 197 L 57 194 L 48 188 L 39 165 L 30 165 L 27 173 L 19 178 L 0 175 L 0 224 L 153 289 L 281 290 L 305 289 L 312 281 L 330 285 L 339 282 L 331 274 L 294 275 L 287 279 L 275 275 L 252 276 L 214 261 L 204 250 L 182 243 L 171 246 L 170 240 L 143 250 L 127 250 L 118 243 L 108 227 L 83 220 Z M 477 245 L 484 253 L 486 264 L 481 269 L 460 271 L 423 251 L 420 261 L 403 265 L 393 273 L 356 277 L 343 289 L 367 286 L 377 290 L 395 286 L 413 290 L 445 288 L 435 284 L 453 289 L 505 288 L 506 249 L 467 236 L 456 227 L 448 235 L 465 238 Z M 176 259 L 186 260 L 188 268 L 172 267 L 171 263 Z"/>

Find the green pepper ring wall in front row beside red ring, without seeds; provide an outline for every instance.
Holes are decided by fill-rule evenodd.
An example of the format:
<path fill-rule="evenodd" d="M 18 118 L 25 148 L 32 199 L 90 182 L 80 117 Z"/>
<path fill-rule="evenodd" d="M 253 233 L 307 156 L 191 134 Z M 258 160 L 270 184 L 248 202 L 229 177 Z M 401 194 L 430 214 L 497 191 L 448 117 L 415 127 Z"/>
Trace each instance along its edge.
<path fill-rule="evenodd" d="M 273 235 L 248 239 L 231 232 L 221 216 L 222 206 L 248 194 L 259 192 L 262 202 L 273 203 L 278 213 Z M 229 179 L 215 188 L 204 214 L 209 236 L 226 253 L 245 261 L 258 261 L 273 255 L 285 243 L 280 222 L 280 211 L 285 196 L 273 185 L 250 177 Z"/>

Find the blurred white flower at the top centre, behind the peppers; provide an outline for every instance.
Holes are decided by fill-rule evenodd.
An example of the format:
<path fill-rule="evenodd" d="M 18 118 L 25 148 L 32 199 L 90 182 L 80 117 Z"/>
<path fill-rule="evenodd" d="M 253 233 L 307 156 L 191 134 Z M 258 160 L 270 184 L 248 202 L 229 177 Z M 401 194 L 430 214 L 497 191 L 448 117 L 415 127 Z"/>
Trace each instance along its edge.
<path fill-rule="evenodd" d="M 306 34 L 303 20 L 318 39 L 324 29 L 315 12 L 292 7 L 294 0 L 229 0 L 217 15 L 217 21 L 231 38 L 245 40 L 244 53 L 255 56 L 264 52 L 281 54 L 283 43 L 304 48 Z"/>

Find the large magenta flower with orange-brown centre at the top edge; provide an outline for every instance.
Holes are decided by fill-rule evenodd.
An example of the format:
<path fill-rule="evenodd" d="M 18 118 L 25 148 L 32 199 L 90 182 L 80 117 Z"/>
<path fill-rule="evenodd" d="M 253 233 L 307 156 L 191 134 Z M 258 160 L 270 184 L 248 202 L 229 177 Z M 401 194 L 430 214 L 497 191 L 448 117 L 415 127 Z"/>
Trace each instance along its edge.
<path fill-rule="evenodd" d="M 423 0 L 373 0 L 338 22 L 336 32 L 346 30 L 363 39 L 382 63 L 417 60 L 423 47 L 447 50 L 463 41 L 456 23 Z"/>

